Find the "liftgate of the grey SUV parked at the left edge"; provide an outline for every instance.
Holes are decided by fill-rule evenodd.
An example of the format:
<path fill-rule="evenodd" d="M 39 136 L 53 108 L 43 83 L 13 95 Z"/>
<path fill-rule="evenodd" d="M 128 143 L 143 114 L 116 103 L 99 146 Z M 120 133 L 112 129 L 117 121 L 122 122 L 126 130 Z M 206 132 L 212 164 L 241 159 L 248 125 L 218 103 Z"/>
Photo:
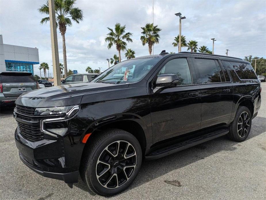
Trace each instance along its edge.
<path fill-rule="evenodd" d="M 5 97 L 18 97 L 24 92 L 37 89 L 34 77 L 27 72 L 2 72 L 0 81 Z"/>

